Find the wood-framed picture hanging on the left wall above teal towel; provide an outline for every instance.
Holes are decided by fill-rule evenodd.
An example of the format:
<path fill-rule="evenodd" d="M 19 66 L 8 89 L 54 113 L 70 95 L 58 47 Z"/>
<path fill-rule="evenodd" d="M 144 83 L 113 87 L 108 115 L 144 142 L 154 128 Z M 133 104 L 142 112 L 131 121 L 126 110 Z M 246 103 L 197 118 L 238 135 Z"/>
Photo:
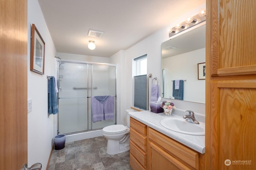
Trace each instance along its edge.
<path fill-rule="evenodd" d="M 31 54 L 30 70 L 38 74 L 44 74 L 45 43 L 35 24 L 31 29 Z"/>

